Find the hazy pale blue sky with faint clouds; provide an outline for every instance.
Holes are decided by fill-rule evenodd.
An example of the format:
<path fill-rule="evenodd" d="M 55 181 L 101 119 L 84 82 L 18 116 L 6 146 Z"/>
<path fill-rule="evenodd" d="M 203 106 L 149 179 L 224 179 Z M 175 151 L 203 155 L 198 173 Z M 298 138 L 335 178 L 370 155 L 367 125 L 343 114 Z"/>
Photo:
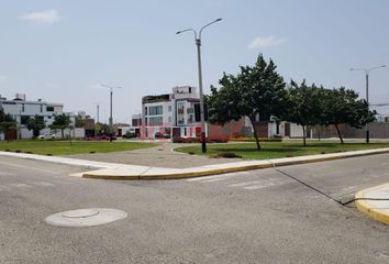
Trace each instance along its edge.
<path fill-rule="evenodd" d="M 223 72 L 263 54 L 286 82 L 344 86 L 362 98 L 365 73 L 389 64 L 387 0 L 0 0 L 0 95 L 131 122 L 142 97 L 198 87 L 192 32 L 202 33 L 204 94 Z M 389 67 L 370 72 L 371 103 L 389 103 Z M 389 114 L 389 108 L 378 108 Z"/>

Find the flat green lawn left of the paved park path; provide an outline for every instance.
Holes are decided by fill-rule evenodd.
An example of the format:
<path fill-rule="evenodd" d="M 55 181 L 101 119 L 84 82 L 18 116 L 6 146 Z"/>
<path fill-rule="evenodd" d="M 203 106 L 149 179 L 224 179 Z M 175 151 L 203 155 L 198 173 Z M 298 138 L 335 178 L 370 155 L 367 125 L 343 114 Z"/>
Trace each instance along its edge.
<path fill-rule="evenodd" d="M 73 155 L 86 153 L 107 153 L 134 151 L 140 148 L 153 147 L 154 143 L 140 142 L 109 142 L 109 141 L 13 141 L 0 142 L 0 151 L 24 152 L 42 155 Z"/>

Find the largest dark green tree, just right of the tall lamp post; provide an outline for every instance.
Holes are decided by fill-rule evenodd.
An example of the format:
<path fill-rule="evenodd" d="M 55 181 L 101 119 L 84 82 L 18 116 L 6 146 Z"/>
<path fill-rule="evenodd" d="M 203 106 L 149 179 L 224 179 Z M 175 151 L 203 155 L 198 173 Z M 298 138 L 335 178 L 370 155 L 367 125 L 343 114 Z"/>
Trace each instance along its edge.
<path fill-rule="evenodd" d="M 269 120 L 270 116 L 278 117 L 287 102 L 285 82 L 276 68 L 271 59 L 267 64 L 259 55 L 253 67 L 241 66 L 241 73 L 236 76 L 224 73 L 219 80 L 221 87 L 216 89 L 211 86 L 211 95 L 205 97 L 210 122 L 224 124 L 248 117 L 257 150 L 260 150 L 256 117 L 260 116 L 263 120 Z"/>

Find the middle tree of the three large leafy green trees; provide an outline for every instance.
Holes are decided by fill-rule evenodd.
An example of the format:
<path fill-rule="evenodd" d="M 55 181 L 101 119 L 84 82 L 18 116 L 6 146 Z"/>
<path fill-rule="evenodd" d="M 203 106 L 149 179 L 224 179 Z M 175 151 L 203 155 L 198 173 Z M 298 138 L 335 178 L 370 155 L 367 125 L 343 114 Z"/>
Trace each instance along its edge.
<path fill-rule="evenodd" d="M 307 146 L 307 129 L 322 123 L 323 88 L 314 84 L 307 86 L 305 80 L 298 85 L 291 80 L 288 90 L 288 109 L 281 118 L 302 127 L 303 144 Z"/>

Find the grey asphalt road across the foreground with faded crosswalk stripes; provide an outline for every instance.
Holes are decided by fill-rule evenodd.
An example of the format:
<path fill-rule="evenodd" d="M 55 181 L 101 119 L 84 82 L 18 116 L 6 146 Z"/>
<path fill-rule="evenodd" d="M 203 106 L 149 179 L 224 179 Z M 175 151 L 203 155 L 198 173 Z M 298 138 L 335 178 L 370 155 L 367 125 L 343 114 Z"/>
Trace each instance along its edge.
<path fill-rule="evenodd" d="M 389 263 L 389 227 L 335 199 L 389 182 L 388 155 L 207 178 L 104 182 L 80 168 L 1 157 L 0 263 Z M 52 213 L 124 210 L 93 228 Z"/>

